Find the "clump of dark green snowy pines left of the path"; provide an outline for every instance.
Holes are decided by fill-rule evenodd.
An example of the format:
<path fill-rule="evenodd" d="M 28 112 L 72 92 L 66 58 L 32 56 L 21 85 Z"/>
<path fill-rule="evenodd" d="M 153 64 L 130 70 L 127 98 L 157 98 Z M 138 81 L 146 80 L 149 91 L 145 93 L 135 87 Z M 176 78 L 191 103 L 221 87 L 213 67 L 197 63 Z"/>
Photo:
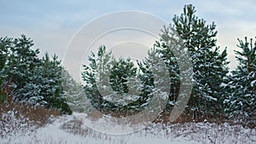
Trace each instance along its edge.
<path fill-rule="evenodd" d="M 61 61 L 49 55 L 38 58 L 39 50 L 32 49 L 32 40 L 1 38 L 1 81 L 8 101 L 29 102 L 34 106 L 55 107 L 70 113 L 61 88 Z"/>

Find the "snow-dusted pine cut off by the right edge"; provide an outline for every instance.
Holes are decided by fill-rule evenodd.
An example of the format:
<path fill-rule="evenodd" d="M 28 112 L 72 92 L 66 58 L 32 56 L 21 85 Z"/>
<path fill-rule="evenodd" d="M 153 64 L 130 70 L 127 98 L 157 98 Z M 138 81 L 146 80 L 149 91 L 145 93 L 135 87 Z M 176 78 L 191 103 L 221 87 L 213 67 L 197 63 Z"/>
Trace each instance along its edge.
<path fill-rule="evenodd" d="M 231 72 L 230 81 L 225 84 L 230 95 L 225 100 L 226 111 L 230 118 L 240 118 L 241 122 L 251 121 L 255 124 L 256 117 L 256 41 L 238 39 L 240 50 L 235 50 L 238 66 Z"/>

